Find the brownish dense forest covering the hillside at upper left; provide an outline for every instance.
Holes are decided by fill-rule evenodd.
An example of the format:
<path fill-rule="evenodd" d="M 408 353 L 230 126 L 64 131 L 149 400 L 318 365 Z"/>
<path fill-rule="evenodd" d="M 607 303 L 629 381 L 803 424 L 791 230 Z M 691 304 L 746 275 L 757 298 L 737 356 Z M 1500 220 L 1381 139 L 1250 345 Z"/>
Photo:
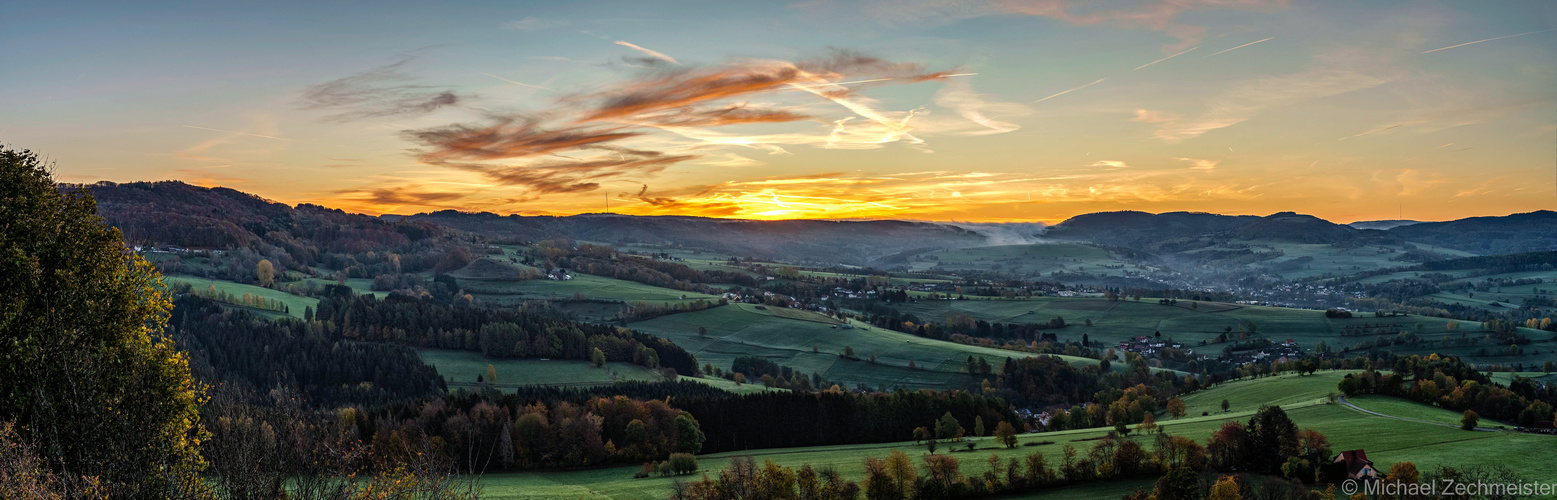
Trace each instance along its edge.
<path fill-rule="evenodd" d="M 455 248 L 478 237 L 433 223 L 381 220 L 321 206 L 268 201 L 224 187 L 196 187 L 177 181 L 98 182 L 61 185 L 84 188 L 98 212 L 117 227 L 126 245 L 156 249 L 159 269 L 170 274 L 212 276 L 240 283 L 257 282 L 260 260 L 288 271 L 316 274 L 338 269 L 346 277 L 433 269 Z"/>

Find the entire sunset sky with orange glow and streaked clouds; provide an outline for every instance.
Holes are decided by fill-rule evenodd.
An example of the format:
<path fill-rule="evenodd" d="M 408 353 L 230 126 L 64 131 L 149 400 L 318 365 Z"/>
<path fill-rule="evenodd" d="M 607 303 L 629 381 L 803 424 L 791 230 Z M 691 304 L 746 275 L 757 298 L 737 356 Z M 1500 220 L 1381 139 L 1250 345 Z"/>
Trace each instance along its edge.
<path fill-rule="evenodd" d="M 1557 2 L 11 2 L 62 182 L 1043 221 L 1557 207 Z"/>

